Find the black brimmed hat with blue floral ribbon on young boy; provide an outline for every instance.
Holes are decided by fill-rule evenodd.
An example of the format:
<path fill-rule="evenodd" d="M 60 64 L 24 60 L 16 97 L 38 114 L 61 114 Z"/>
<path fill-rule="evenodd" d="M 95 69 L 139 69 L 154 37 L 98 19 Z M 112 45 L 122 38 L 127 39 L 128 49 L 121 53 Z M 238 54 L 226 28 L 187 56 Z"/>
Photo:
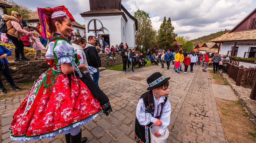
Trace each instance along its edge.
<path fill-rule="evenodd" d="M 154 89 L 165 82 L 167 82 L 170 77 L 164 78 L 164 76 L 160 72 L 155 72 L 147 78 L 148 88 L 147 90 Z"/>

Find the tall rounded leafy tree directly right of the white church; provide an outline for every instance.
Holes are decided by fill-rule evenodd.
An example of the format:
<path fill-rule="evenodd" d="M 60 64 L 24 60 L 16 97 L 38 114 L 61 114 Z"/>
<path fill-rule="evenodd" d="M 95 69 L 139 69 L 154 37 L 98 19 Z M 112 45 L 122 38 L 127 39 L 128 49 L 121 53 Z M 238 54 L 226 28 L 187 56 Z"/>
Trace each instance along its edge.
<path fill-rule="evenodd" d="M 136 50 L 145 52 L 147 48 L 152 49 L 156 41 L 156 30 L 152 26 L 149 14 L 143 10 L 134 12 L 138 20 L 138 30 L 135 32 Z"/>

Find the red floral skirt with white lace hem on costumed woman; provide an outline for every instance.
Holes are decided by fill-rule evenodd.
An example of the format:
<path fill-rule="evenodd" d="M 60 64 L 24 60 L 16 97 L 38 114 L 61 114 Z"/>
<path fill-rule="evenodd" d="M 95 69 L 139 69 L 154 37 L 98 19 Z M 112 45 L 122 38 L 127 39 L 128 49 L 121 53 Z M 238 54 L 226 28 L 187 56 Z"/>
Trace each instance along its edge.
<path fill-rule="evenodd" d="M 11 139 L 52 139 L 96 118 L 99 102 L 79 78 L 69 77 L 53 70 L 40 76 L 13 115 Z"/>

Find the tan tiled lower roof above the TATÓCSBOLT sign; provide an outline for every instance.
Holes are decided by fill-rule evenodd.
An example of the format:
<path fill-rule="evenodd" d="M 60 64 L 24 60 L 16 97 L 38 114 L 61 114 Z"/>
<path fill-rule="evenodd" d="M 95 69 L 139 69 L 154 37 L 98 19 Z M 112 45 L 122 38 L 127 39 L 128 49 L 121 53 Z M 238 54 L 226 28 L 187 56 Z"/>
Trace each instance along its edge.
<path fill-rule="evenodd" d="M 213 39 L 212 42 L 236 40 L 256 40 L 256 30 L 227 33 Z"/>

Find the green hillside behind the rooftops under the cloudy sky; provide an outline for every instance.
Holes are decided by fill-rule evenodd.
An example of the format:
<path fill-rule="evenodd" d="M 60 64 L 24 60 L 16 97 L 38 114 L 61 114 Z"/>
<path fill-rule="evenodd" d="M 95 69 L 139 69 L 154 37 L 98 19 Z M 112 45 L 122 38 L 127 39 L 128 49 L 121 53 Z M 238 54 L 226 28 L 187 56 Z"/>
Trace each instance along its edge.
<path fill-rule="evenodd" d="M 230 30 L 227 30 L 227 32 L 229 32 L 229 31 Z M 217 38 L 223 34 L 224 34 L 224 31 L 220 31 L 220 32 L 212 33 L 210 35 L 203 36 L 198 39 L 194 39 L 194 40 L 190 40 L 190 41 L 193 43 L 194 46 L 197 46 L 197 44 L 204 44 L 204 43 L 211 42 L 211 40 L 213 40 L 214 38 Z"/>

